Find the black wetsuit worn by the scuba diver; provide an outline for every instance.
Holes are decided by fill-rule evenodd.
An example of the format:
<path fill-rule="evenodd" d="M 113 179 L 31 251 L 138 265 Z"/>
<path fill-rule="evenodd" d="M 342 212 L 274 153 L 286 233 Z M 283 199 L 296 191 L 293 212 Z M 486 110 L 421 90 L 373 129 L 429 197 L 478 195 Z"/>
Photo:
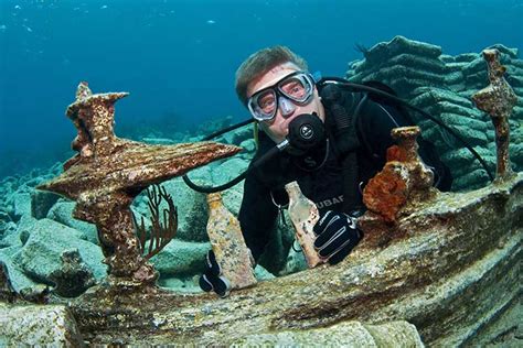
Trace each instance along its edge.
<path fill-rule="evenodd" d="M 373 100 L 361 93 L 343 91 L 345 110 L 357 117 L 353 120 L 361 145 L 356 150 L 360 187 L 367 183 L 385 164 L 386 149 L 394 144 L 391 130 L 410 126 L 406 111 L 384 100 Z M 364 99 L 363 102 L 362 99 Z M 239 209 L 239 222 L 247 247 L 258 260 L 264 252 L 278 216 L 275 205 L 288 203 L 284 185 L 298 181 L 302 193 L 318 206 L 320 214 L 327 210 L 343 211 L 342 166 L 335 155 L 333 117 L 325 108 L 325 130 L 329 140 L 318 149 L 302 156 L 280 152 L 276 156 L 249 172 L 245 180 L 244 197 Z M 275 143 L 263 132 L 254 161 Z M 419 143 L 419 154 L 435 172 L 436 186 L 448 191 L 451 177 L 448 168 L 440 162 L 434 146 L 425 141 Z M 361 199 L 361 195 L 360 195 Z"/>

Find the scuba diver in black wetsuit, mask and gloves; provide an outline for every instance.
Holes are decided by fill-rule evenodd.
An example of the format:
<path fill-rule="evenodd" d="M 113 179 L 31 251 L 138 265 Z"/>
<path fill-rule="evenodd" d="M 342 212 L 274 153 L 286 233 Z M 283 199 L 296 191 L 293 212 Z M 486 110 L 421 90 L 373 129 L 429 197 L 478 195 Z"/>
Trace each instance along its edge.
<path fill-rule="evenodd" d="M 386 150 L 394 144 L 391 130 L 414 124 L 408 112 L 376 94 L 348 90 L 335 80 L 316 80 L 306 61 L 285 46 L 250 55 L 237 69 L 235 85 L 260 130 L 238 215 L 255 262 L 288 203 L 285 184 L 297 181 L 320 211 L 314 247 L 330 264 L 339 263 L 363 238 L 356 227 L 364 213 L 363 187 L 386 162 Z M 364 85 L 394 95 L 381 83 Z M 424 139 L 418 144 L 421 160 L 434 172 L 435 186 L 449 191 L 450 172 L 434 145 Z M 257 163 L 275 146 L 284 150 Z M 200 286 L 228 294 L 212 251 Z"/>

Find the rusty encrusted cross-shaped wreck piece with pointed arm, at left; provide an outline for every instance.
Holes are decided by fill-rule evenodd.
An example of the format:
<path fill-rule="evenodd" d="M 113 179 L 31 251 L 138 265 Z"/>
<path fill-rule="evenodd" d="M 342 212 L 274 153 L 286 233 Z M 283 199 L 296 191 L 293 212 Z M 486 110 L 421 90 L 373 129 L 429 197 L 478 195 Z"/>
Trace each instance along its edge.
<path fill-rule="evenodd" d="M 76 101 L 67 108 L 78 134 L 78 153 L 64 164 L 64 173 L 38 188 L 76 200 L 74 217 L 93 222 L 109 265 L 109 275 L 130 284 L 152 284 L 156 272 L 140 254 L 129 209 L 145 188 L 217 159 L 239 148 L 213 142 L 150 145 L 114 133 L 114 104 L 126 93 L 93 95 L 81 83 Z M 50 236 L 52 238 L 52 236 Z"/>

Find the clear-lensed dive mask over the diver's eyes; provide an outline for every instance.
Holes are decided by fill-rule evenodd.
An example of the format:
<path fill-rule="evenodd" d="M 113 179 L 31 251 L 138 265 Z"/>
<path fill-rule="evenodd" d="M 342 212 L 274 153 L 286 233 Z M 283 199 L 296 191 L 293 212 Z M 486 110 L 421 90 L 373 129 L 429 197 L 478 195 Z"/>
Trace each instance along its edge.
<path fill-rule="evenodd" d="M 290 104 L 303 106 L 310 102 L 314 91 L 314 79 L 305 72 L 285 76 L 273 86 L 255 93 L 247 100 L 247 107 L 257 121 L 270 121 L 278 107 L 288 109 Z M 290 102 L 289 102 L 290 101 Z"/>

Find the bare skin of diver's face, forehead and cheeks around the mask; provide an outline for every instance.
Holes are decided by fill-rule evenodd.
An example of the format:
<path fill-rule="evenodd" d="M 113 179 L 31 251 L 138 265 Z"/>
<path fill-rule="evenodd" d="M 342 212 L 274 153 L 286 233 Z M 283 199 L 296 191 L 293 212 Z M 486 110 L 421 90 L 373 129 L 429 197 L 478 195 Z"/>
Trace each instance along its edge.
<path fill-rule="evenodd" d="M 292 63 L 284 63 L 273 67 L 270 70 L 260 77 L 250 81 L 247 86 L 247 97 L 253 96 L 258 90 L 270 87 L 289 74 L 299 72 L 300 69 Z M 284 110 L 282 110 L 284 109 Z M 285 100 L 284 108 L 278 106 L 275 117 L 268 121 L 260 121 L 260 128 L 269 135 L 269 138 L 280 143 L 285 140 L 289 132 L 289 123 L 298 115 L 316 112 L 318 117 L 324 121 L 325 111 L 318 96 L 318 89 L 314 86 L 314 91 L 311 100 L 306 105 L 298 105 L 289 99 Z"/>

